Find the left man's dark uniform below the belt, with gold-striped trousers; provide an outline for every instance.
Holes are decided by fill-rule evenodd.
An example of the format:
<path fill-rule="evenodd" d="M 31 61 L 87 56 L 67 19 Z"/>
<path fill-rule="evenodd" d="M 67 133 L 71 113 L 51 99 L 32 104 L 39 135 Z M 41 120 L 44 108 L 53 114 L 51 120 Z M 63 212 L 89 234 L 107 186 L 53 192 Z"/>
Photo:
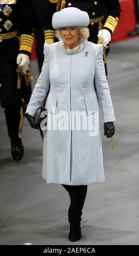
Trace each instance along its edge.
<path fill-rule="evenodd" d="M 17 88 L 16 58 L 19 50 L 17 38 L 6 39 L 0 48 L 0 101 L 5 108 L 8 135 L 11 143 L 17 143 L 21 138 L 23 124 L 22 99 L 28 103 L 31 96 L 31 86 L 26 85 L 22 77 L 21 88 Z"/>

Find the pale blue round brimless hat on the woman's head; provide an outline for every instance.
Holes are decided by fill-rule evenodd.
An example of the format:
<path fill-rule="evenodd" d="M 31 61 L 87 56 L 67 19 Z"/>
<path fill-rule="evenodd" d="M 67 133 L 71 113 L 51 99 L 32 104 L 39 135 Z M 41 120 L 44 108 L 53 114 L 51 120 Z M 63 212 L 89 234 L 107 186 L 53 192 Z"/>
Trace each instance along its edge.
<path fill-rule="evenodd" d="M 52 26 L 54 29 L 64 27 L 87 27 L 89 15 L 75 7 L 67 7 L 53 14 Z"/>

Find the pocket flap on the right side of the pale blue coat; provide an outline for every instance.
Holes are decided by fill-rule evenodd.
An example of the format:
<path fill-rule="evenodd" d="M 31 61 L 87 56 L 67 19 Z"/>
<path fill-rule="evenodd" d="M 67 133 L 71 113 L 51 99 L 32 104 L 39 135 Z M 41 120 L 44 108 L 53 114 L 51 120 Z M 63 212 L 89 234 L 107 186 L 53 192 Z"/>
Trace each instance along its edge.
<path fill-rule="evenodd" d="M 87 115 L 93 114 L 99 111 L 99 103 L 97 99 L 97 95 L 87 95 L 85 97 L 85 107 Z"/>

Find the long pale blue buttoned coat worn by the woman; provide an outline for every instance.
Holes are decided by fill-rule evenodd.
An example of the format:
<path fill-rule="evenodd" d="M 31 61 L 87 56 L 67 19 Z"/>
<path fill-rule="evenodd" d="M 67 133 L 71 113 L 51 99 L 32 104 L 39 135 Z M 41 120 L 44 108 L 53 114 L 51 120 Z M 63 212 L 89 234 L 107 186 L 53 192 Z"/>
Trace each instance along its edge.
<path fill-rule="evenodd" d="M 35 114 L 46 101 L 47 127 L 53 117 L 55 130 L 47 129 L 43 143 L 42 177 L 47 183 L 87 185 L 104 181 L 102 139 L 99 130 L 89 136 L 89 130 L 74 130 L 73 117 L 68 130 L 58 129 L 58 114 L 83 111 L 88 123 L 94 123 L 102 108 L 104 122 L 114 121 L 110 89 L 105 78 L 103 45 L 86 41 L 77 53 L 66 53 L 60 42 L 44 45 L 45 60 L 26 113 Z M 94 89 L 94 82 L 97 95 Z M 98 103 L 98 99 L 99 103 Z M 95 119 L 96 120 L 96 119 Z M 57 129 L 57 130 L 56 130 Z"/>

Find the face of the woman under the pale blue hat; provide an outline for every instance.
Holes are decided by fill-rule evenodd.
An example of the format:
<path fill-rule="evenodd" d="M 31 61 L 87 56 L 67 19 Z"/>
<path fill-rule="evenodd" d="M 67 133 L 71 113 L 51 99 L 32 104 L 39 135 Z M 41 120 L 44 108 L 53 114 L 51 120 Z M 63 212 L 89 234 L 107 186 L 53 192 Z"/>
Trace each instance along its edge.
<path fill-rule="evenodd" d="M 73 49 L 79 44 L 79 28 L 77 27 L 65 27 L 61 28 L 62 39 L 65 45 Z"/>

